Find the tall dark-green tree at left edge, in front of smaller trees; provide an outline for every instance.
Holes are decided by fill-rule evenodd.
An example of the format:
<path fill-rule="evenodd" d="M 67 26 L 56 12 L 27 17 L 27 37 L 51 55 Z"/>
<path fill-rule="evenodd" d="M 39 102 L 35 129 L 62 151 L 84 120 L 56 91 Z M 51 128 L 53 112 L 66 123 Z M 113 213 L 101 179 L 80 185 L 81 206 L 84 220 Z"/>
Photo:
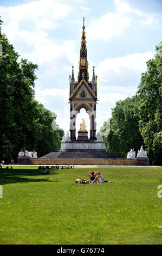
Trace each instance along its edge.
<path fill-rule="evenodd" d="M 4 34 L 0 34 L 3 54 L 0 57 L 0 140 L 1 158 L 16 158 L 22 147 L 34 147 L 37 130 L 34 120 L 34 75 L 36 64 L 21 59 L 9 44 Z"/>

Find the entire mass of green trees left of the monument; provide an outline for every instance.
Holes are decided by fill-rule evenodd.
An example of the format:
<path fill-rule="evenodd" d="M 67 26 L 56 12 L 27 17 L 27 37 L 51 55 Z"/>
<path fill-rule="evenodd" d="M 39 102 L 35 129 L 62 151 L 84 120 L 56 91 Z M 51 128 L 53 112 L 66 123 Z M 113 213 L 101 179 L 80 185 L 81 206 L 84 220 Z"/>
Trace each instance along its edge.
<path fill-rule="evenodd" d="M 2 20 L 0 20 L 0 28 Z M 38 156 L 60 149 L 63 131 L 53 130 L 56 119 L 48 109 L 34 100 L 36 64 L 20 55 L 0 30 L 0 152 L 2 159 L 17 159 L 23 148 Z"/>

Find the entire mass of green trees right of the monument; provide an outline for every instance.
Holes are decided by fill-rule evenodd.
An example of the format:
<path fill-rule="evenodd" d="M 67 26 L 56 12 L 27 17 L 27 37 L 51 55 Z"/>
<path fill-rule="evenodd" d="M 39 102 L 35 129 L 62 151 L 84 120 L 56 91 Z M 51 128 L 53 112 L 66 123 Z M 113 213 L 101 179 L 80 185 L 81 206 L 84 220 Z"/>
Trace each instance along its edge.
<path fill-rule="evenodd" d="M 147 151 L 150 164 L 161 164 L 162 156 L 162 44 L 157 54 L 148 60 L 147 71 L 135 96 L 116 102 L 112 109 L 110 133 L 103 136 L 107 151 L 126 157 L 132 148 L 141 145 Z"/>

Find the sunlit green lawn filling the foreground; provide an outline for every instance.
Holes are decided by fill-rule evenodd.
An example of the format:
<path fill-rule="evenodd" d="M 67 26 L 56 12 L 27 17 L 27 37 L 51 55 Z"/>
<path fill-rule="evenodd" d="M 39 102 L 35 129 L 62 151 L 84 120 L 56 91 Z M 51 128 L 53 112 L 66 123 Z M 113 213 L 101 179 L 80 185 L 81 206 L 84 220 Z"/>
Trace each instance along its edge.
<path fill-rule="evenodd" d="M 105 184 L 74 184 L 100 170 Z M 0 244 L 161 244 L 161 167 L 0 169 Z M 47 179 L 49 177 L 49 179 Z M 57 180 L 56 180 L 57 178 Z M 55 180 L 54 180 L 55 179 Z"/>

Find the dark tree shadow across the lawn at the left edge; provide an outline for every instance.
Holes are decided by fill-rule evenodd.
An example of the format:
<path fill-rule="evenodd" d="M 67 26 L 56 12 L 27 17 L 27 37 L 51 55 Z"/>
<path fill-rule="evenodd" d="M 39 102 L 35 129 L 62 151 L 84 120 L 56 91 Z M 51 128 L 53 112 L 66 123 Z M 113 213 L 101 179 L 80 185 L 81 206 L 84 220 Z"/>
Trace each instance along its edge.
<path fill-rule="evenodd" d="M 47 179 L 50 175 L 59 174 L 55 173 L 54 170 L 50 174 L 38 174 L 40 170 L 36 169 L 0 169 L 0 185 L 11 184 L 11 183 L 22 183 L 22 182 L 55 182 L 54 180 Z M 23 176 L 34 176 L 33 178 Z M 35 179 L 36 176 L 42 176 L 42 178 Z M 57 180 L 58 182 L 59 180 Z"/>

